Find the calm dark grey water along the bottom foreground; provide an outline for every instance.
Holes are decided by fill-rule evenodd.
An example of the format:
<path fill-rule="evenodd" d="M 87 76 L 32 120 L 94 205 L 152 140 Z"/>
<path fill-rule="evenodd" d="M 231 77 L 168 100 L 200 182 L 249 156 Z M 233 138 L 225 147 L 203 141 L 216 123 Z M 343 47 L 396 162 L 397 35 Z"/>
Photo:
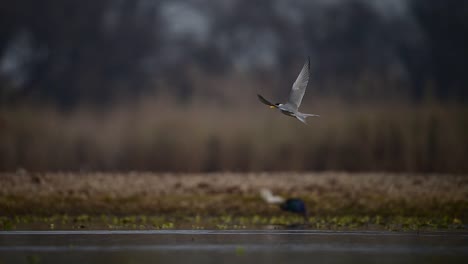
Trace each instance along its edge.
<path fill-rule="evenodd" d="M 0 263 L 468 263 L 466 233 L 7 231 Z"/>

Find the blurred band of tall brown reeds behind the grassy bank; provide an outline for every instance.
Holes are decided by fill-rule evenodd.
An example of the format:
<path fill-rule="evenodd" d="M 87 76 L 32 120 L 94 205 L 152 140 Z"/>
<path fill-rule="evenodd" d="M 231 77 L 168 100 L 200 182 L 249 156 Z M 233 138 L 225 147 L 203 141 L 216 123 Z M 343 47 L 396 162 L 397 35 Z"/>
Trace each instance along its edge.
<path fill-rule="evenodd" d="M 0 169 L 468 172 L 468 107 L 314 100 L 310 126 L 260 103 L 164 96 L 107 110 L 4 107 Z M 255 98 L 254 96 L 252 98 Z"/>

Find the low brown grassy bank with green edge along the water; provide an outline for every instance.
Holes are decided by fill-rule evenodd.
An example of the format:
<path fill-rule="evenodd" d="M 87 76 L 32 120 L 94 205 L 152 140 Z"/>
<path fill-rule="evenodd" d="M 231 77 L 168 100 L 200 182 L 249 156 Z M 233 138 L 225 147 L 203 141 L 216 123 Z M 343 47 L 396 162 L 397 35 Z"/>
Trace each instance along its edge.
<path fill-rule="evenodd" d="M 468 177 L 444 174 L 19 171 L 0 174 L 0 212 L 5 221 L 16 217 L 19 223 L 24 217 L 57 215 L 85 220 L 117 216 L 120 220 L 114 222 L 127 217 L 124 222 L 140 223 L 141 218 L 135 216 L 144 216 L 157 217 L 154 226 L 172 223 L 169 227 L 174 223 L 187 227 L 200 218 L 213 217 L 215 226 L 225 223 L 226 217 L 227 224 L 244 221 L 243 226 L 300 219 L 263 202 L 260 188 L 304 199 L 311 221 L 319 228 L 331 228 L 330 223 L 332 227 L 354 226 L 354 222 L 358 227 L 407 223 L 410 227 L 464 228 L 468 222 Z"/>

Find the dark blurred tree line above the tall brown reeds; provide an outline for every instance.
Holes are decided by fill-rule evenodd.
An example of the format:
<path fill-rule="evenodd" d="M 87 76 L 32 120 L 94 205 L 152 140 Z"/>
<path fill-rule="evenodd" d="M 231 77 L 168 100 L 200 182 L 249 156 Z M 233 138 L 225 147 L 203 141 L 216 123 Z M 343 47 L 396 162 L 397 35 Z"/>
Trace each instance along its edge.
<path fill-rule="evenodd" d="M 281 89 L 310 55 L 320 94 L 464 103 L 467 47 L 459 0 L 3 1 L 0 96 L 67 108 L 170 87 L 184 101 L 193 72 Z"/>

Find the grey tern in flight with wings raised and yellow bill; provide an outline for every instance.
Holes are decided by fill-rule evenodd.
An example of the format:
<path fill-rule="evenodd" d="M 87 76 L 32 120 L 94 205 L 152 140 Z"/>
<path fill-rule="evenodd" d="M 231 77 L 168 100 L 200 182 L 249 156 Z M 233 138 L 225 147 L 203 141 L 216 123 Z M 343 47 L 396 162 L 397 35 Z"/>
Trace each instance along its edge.
<path fill-rule="evenodd" d="M 281 113 L 290 117 L 297 118 L 302 123 L 307 124 L 306 122 L 307 117 L 319 116 L 319 115 L 306 114 L 306 113 L 299 112 L 299 106 L 301 105 L 302 97 L 304 97 L 305 89 L 307 88 L 307 83 L 309 82 L 309 76 L 310 76 L 310 57 L 304 63 L 304 66 L 302 67 L 302 70 L 299 73 L 299 76 L 297 76 L 297 79 L 293 84 L 291 92 L 289 93 L 288 102 L 286 102 L 285 104 L 280 104 L 280 103 L 273 104 L 273 103 L 270 103 L 267 99 L 265 99 L 260 94 L 257 94 L 258 99 L 260 100 L 260 102 L 270 106 L 270 108 L 272 109 L 276 108 L 280 110 Z"/>

